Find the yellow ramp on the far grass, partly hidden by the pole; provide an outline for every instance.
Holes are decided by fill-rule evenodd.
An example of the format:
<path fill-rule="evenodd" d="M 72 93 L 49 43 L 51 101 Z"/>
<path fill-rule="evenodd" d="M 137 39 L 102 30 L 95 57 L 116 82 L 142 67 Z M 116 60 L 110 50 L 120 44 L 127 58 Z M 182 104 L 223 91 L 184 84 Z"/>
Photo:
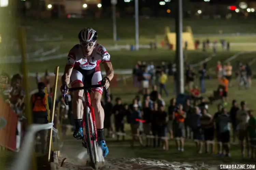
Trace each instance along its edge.
<path fill-rule="evenodd" d="M 176 33 L 167 31 L 166 28 L 166 41 L 173 45 L 173 50 L 176 49 Z M 187 41 L 187 49 L 195 50 L 194 37 L 190 27 L 187 27 L 187 32 L 182 33 L 182 46 L 185 47 L 185 41 Z"/>

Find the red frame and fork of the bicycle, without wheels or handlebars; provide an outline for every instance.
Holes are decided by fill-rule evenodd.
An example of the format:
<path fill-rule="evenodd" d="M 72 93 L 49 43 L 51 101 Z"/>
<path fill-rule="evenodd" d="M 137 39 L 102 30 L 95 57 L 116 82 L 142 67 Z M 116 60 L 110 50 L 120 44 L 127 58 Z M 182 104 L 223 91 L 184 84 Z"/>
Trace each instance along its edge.
<path fill-rule="evenodd" d="M 88 106 L 89 107 L 89 109 L 90 109 L 90 113 L 91 113 L 91 118 L 93 119 L 93 128 L 94 128 L 94 134 L 95 134 L 95 136 L 92 136 L 93 138 L 92 138 L 92 140 L 95 140 L 95 141 L 97 141 L 98 139 L 98 135 L 97 135 L 97 129 L 96 129 L 96 121 L 95 121 L 95 114 L 94 114 L 94 108 L 93 108 L 93 106 L 91 105 L 91 101 L 90 101 L 90 94 L 89 94 L 89 91 L 88 90 L 85 90 L 84 91 L 84 97 L 85 97 L 85 108 L 84 108 L 84 112 L 85 112 L 85 109 L 86 109 L 86 106 Z M 84 113 L 83 112 L 83 122 L 82 122 L 82 124 L 83 124 L 83 127 L 84 127 L 84 124 L 85 124 L 85 121 L 84 121 Z M 87 137 L 87 136 L 86 136 Z M 86 142 L 86 141 L 85 141 Z"/>

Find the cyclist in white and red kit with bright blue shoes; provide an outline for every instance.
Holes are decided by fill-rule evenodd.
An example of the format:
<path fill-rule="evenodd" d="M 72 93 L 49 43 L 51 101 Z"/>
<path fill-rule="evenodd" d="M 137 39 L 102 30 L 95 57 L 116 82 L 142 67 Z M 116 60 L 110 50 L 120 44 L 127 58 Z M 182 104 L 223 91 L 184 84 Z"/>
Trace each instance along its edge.
<path fill-rule="evenodd" d="M 61 78 L 63 88 L 71 83 L 71 87 L 82 87 L 86 85 L 103 84 L 108 88 L 110 81 L 114 76 L 112 64 L 110 62 L 110 54 L 106 49 L 97 44 L 97 32 L 92 28 L 85 28 L 78 34 L 80 44 L 75 45 L 68 54 L 67 64 L 65 66 L 64 74 Z M 100 71 L 100 62 L 104 65 L 106 77 L 102 79 Z M 68 90 L 67 90 L 68 91 Z M 66 92 L 67 93 L 67 92 Z M 73 137 L 82 139 L 82 117 L 83 117 L 83 93 L 84 90 L 74 91 L 73 96 L 73 115 L 75 120 L 75 131 Z M 103 156 L 105 157 L 109 150 L 106 146 L 103 135 L 104 110 L 101 106 L 100 100 L 102 96 L 102 87 L 91 89 L 90 98 L 94 107 L 96 127 L 98 133 L 98 144 L 101 146 Z"/>

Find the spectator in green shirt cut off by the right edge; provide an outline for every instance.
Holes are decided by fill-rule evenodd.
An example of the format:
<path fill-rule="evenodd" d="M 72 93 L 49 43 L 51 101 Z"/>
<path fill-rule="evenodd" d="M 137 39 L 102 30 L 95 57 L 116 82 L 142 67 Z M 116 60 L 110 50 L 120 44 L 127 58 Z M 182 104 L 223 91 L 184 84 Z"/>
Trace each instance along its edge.
<path fill-rule="evenodd" d="M 248 121 L 247 131 L 251 144 L 251 159 L 256 158 L 256 119 L 253 116 L 253 111 L 249 110 L 248 115 L 250 119 Z"/>

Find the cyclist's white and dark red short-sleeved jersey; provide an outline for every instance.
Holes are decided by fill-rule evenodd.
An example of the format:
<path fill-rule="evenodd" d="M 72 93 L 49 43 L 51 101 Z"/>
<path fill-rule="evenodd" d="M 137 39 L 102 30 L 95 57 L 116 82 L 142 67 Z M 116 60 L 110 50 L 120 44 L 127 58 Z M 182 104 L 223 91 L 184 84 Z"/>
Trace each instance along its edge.
<path fill-rule="evenodd" d="M 73 65 L 74 69 L 91 70 L 95 69 L 100 71 L 100 62 L 110 62 L 110 54 L 106 51 L 105 47 L 96 44 L 89 61 L 84 56 L 81 45 L 75 45 L 68 54 L 67 65 Z"/>

